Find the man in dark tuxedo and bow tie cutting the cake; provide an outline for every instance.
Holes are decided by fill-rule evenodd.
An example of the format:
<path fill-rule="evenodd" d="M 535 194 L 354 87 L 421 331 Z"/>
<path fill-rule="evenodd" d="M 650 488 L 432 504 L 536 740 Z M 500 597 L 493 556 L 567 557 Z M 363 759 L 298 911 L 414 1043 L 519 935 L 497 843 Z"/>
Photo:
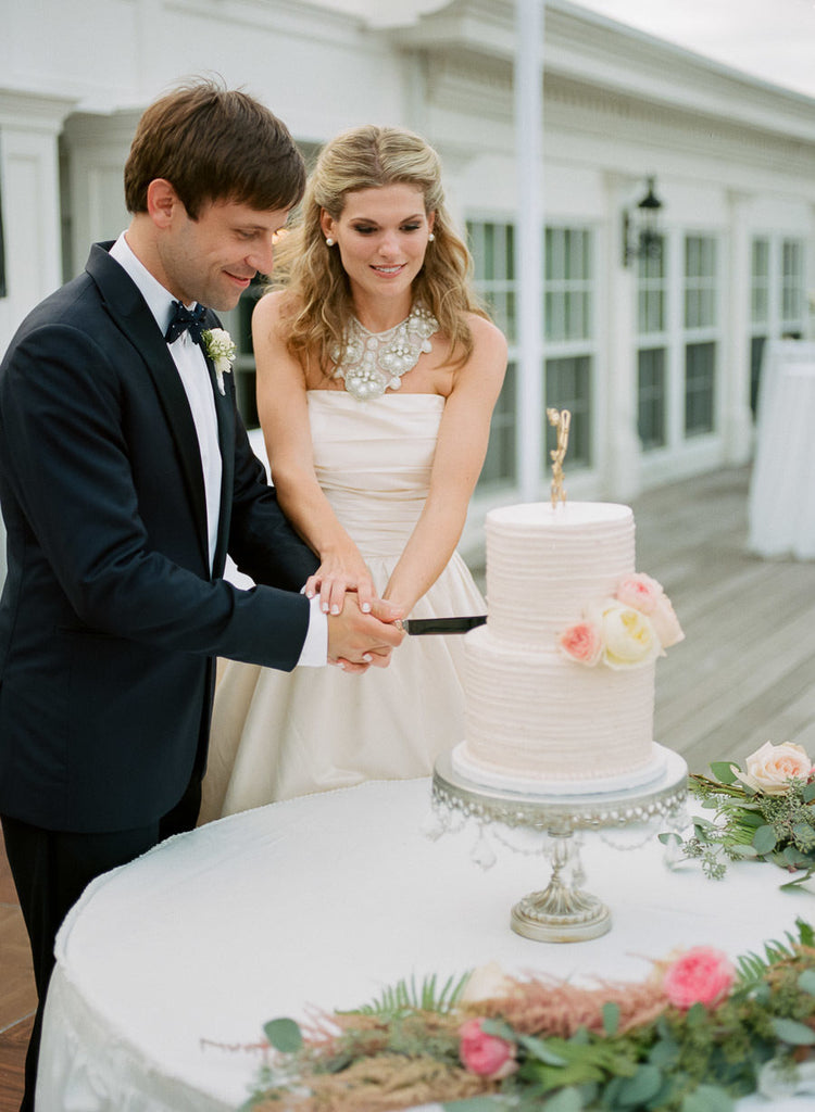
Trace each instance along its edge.
<path fill-rule="evenodd" d="M 362 614 L 352 595 L 326 617 L 300 594 L 318 562 L 207 353 L 213 310 L 272 270 L 303 188 L 288 131 L 252 98 L 213 82 L 164 97 L 125 168 L 127 232 L 0 365 L 0 816 L 40 1000 L 23 1110 L 65 914 L 195 826 L 215 657 L 362 672 L 402 639 L 386 604 Z M 223 579 L 227 553 L 256 588 Z"/>

